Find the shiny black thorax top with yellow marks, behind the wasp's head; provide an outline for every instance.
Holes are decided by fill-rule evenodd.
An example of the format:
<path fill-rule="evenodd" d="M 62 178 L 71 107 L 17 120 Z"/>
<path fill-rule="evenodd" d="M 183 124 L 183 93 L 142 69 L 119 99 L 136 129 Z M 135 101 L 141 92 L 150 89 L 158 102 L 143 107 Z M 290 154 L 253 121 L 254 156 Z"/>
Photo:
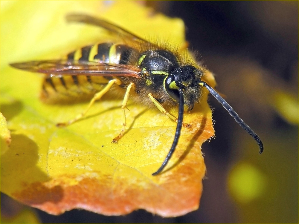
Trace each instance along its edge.
<path fill-rule="evenodd" d="M 150 74 L 159 75 L 168 75 L 179 67 L 176 56 L 166 50 L 148 50 L 142 53 L 138 65 Z"/>

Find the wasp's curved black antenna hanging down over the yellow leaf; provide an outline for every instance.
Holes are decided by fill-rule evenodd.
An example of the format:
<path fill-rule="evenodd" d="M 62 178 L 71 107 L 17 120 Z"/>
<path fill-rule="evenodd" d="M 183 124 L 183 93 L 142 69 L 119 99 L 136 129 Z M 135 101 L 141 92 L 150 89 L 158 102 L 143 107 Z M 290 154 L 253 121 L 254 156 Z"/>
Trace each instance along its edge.
<path fill-rule="evenodd" d="M 170 148 L 170 151 L 169 151 L 167 157 L 165 158 L 165 160 L 162 163 L 161 167 L 155 173 L 152 174 L 153 176 L 161 173 L 161 171 L 167 165 L 169 159 L 171 158 L 173 152 L 176 149 L 176 145 L 178 144 L 179 137 L 181 135 L 181 129 L 182 129 L 182 124 L 183 124 L 183 116 L 184 116 L 184 90 L 183 89 L 179 89 L 179 96 L 180 96 L 180 99 L 179 99 L 179 117 L 178 117 L 178 124 L 176 125 L 176 134 L 174 136 L 174 140 L 173 140 L 172 146 Z"/>

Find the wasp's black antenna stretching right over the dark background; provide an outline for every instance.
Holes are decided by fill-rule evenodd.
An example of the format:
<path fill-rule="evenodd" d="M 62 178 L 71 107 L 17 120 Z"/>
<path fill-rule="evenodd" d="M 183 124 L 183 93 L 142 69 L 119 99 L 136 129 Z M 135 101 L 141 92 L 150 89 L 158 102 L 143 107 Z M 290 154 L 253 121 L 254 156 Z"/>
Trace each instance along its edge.
<path fill-rule="evenodd" d="M 223 99 L 222 96 L 220 96 L 219 93 L 217 93 L 212 87 L 210 87 L 206 82 L 203 82 L 203 81 L 199 82 L 199 85 L 207 88 L 209 90 L 209 92 L 212 94 L 212 96 L 214 96 L 218 100 L 218 102 L 222 104 L 222 106 L 225 108 L 225 110 L 228 111 L 228 113 L 235 119 L 235 121 L 242 128 L 244 128 L 248 134 L 250 134 L 254 138 L 254 140 L 257 142 L 257 144 L 260 147 L 260 154 L 262 154 L 262 152 L 264 151 L 264 146 L 263 146 L 263 142 L 261 141 L 260 137 L 257 136 L 257 134 L 255 134 L 255 132 L 248 125 L 245 124 L 245 122 L 239 117 L 237 112 L 234 111 L 234 109 L 225 101 L 225 99 Z"/>

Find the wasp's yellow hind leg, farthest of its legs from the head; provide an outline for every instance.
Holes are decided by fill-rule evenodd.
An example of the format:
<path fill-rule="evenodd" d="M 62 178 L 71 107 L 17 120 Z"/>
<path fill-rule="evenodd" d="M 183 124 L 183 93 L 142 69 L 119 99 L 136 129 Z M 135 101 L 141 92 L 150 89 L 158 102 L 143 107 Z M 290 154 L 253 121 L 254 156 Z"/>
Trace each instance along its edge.
<path fill-rule="evenodd" d="M 65 122 L 65 123 L 58 123 L 56 126 L 57 127 L 65 127 L 67 125 L 71 125 L 72 123 L 76 122 L 77 120 L 83 118 L 86 113 L 89 111 L 89 109 L 91 108 L 91 106 L 94 104 L 94 102 L 96 100 L 99 100 L 101 99 L 101 97 L 108 92 L 108 90 L 112 87 L 112 85 L 116 83 L 118 85 L 121 85 L 121 81 L 119 79 L 112 79 L 108 82 L 108 84 L 105 86 L 105 88 L 103 88 L 100 92 L 94 94 L 94 97 L 91 99 L 91 101 L 89 102 L 89 105 L 87 107 L 87 109 L 83 112 L 83 113 L 80 113 L 79 115 L 77 115 L 74 119 L 68 121 L 68 122 Z"/>

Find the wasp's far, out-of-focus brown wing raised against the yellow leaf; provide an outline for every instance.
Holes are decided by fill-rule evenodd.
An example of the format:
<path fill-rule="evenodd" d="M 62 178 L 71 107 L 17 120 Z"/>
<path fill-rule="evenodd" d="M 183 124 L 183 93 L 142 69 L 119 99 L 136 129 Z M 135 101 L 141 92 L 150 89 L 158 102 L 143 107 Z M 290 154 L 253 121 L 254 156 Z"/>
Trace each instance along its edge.
<path fill-rule="evenodd" d="M 142 39 L 141 37 L 138 37 L 135 34 L 129 32 L 115 24 L 109 23 L 103 19 L 97 19 L 92 16 L 88 16 L 88 15 L 84 15 L 84 14 L 70 14 L 70 15 L 66 16 L 66 20 L 68 22 L 82 22 L 82 23 L 86 23 L 86 24 L 103 27 L 104 29 L 109 30 L 112 33 L 115 33 L 118 36 L 122 36 L 125 39 L 149 43 L 145 39 Z"/>

